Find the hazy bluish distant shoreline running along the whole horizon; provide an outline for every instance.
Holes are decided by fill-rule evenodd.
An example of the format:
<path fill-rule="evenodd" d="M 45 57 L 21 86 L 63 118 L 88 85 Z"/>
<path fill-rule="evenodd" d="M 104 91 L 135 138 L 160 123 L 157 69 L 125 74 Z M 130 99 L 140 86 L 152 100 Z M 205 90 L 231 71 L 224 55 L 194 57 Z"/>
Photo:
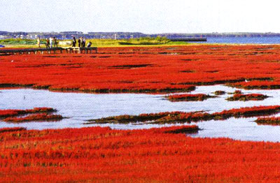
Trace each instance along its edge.
<path fill-rule="evenodd" d="M 48 38 L 50 36 L 55 36 L 58 39 L 71 39 L 73 36 L 76 38 L 85 37 L 87 39 L 127 39 L 127 38 L 143 38 L 151 37 L 156 38 L 166 37 L 166 38 L 260 38 L 260 37 L 275 37 L 280 36 L 280 33 L 162 33 L 162 34 L 144 34 L 141 32 L 82 32 L 82 31 L 61 31 L 61 32 L 25 32 L 25 31 L 0 31 L 0 39 L 6 38 L 25 38 L 25 39 L 36 39 Z"/>

